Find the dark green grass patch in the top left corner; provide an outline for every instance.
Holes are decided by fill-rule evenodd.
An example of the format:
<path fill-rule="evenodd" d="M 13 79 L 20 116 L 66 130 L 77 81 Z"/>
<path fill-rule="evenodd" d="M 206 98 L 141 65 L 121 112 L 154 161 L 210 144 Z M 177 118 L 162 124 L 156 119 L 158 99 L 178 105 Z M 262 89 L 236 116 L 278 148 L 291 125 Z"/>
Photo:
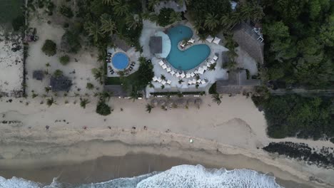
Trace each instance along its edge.
<path fill-rule="evenodd" d="M 0 1 L 0 23 L 11 23 L 13 19 L 22 14 L 21 6 L 24 0 L 1 0 Z"/>

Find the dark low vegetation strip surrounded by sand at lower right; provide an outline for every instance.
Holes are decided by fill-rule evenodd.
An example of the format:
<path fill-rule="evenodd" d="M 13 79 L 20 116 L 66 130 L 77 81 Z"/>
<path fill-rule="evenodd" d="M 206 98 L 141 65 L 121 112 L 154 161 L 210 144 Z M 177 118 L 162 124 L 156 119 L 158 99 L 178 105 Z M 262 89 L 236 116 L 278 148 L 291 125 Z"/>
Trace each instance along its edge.
<path fill-rule="evenodd" d="M 308 164 L 315 164 L 318 167 L 334 167 L 333 147 L 323 147 L 315 151 L 305 144 L 293 142 L 270 142 L 263 150 L 279 155 L 285 155 L 297 160 L 303 160 Z"/>

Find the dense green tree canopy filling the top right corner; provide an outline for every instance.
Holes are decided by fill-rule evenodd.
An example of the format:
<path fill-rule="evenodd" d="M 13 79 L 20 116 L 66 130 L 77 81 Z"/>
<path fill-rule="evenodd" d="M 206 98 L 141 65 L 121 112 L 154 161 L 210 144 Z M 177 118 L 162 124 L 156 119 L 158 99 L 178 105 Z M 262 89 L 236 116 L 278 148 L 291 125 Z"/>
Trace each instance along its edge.
<path fill-rule="evenodd" d="M 334 1 L 263 1 L 269 80 L 333 88 Z"/>

